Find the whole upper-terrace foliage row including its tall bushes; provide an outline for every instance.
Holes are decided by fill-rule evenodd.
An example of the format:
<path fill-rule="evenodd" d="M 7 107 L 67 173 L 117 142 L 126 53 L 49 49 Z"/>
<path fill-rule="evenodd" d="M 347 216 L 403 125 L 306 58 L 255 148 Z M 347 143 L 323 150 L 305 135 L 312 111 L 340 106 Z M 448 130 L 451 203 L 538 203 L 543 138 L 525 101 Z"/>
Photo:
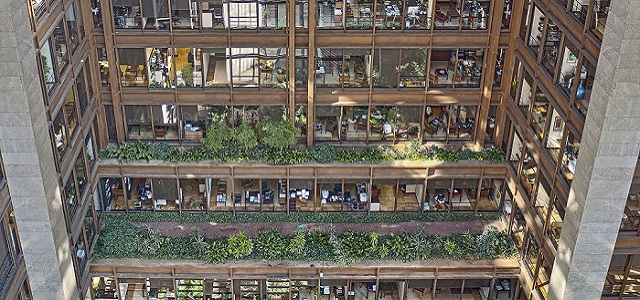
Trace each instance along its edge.
<path fill-rule="evenodd" d="M 505 159 L 504 152 L 499 148 L 491 147 L 474 152 L 468 148 L 451 150 L 437 146 L 426 147 L 420 145 L 418 141 L 405 145 L 403 149 L 378 146 L 365 147 L 358 151 L 336 148 L 330 144 L 321 144 L 312 151 L 306 148 L 292 149 L 295 144 L 295 137 L 292 135 L 295 133 L 293 127 L 287 128 L 284 124 L 279 126 L 267 124 L 269 125 L 263 126 L 264 130 L 259 131 L 258 135 L 248 125 L 231 129 L 226 125 L 214 124 L 207 136 L 202 139 L 203 147 L 171 148 L 168 144 L 160 142 L 123 142 L 117 148 L 109 147 L 101 150 L 99 156 L 101 159 L 117 159 L 119 163 L 152 159 L 174 163 L 204 160 L 216 162 L 261 160 L 274 165 L 301 164 L 310 161 L 323 164 L 332 162 L 375 164 L 392 160 L 502 162 Z M 258 136 L 260 142 L 258 142 Z"/>

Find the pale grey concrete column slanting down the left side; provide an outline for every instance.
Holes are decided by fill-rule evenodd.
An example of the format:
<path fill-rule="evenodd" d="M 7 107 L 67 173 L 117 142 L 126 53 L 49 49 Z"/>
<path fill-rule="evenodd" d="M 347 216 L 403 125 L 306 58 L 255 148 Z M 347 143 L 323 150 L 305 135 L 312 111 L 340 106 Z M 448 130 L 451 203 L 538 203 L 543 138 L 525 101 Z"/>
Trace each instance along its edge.
<path fill-rule="evenodd" d="M 79 299 L 24 0 L 0 0 L 0 149 L 34 299 Z"/>

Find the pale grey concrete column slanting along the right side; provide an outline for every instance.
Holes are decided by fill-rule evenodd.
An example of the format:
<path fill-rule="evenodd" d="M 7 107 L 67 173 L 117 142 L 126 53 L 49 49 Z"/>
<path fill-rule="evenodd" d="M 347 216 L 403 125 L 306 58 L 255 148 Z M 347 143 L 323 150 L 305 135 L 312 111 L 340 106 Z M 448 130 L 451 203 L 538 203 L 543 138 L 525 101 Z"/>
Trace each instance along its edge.
<path fill-rule="evenodd" d="M 640 150 L 640 0 L 615 0 L 548 299 L 600 299 Z"/>

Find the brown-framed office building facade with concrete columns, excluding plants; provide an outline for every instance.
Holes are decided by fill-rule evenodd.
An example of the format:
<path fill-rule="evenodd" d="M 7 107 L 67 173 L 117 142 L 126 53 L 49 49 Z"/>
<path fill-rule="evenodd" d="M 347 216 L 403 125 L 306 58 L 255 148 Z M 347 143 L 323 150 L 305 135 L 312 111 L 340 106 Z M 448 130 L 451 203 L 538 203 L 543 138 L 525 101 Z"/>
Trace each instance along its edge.
<path fill-rule="evenodd" d="M 7 299 L 302 299 L 321 286 L 316 295 L 367 299 L 640 293 L 638 1 L 0 4 Z M 298 148 L 496 147 L 506 159 L 98 159 L 136 140 L 197 148 L 214 124 L 264 120 L 289 122 Z M 518 259 L 344 268 L 92 257 L 108 214 L 434 211 L 500 215 Z"/>

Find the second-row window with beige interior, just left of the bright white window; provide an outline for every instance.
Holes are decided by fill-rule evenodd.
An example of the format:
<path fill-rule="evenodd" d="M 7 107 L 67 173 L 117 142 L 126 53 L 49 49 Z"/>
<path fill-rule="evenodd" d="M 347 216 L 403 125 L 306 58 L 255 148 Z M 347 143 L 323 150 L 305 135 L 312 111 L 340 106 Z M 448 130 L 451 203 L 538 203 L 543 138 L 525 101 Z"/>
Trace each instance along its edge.
<path fill-rule="evenodd" d="M 225 48 L 203 48 L 202 67 L 205 87 L 228 87 L 231 83 L 231 65 Z"/>

